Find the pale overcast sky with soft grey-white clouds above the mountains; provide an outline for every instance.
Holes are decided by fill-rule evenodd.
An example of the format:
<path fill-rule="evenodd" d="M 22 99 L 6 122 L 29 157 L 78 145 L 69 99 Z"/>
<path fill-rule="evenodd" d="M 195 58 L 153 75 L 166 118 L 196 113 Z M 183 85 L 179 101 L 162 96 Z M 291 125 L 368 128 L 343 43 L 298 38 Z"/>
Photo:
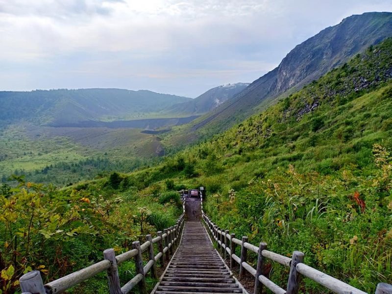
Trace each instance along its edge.
<path fill-rule="evenodd" d="M 0 0 L 0 90 L 251 82 L 295 45 L 392 0 Z"/>

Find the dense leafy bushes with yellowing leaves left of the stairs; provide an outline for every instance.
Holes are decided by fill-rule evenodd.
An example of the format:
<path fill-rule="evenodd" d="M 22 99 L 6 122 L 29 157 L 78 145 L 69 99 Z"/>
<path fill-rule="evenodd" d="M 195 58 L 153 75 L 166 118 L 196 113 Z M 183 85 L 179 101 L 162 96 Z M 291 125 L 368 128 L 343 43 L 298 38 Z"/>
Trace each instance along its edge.
<path fill-rule="evenodd" d="M 40 270 L 44 281 L 64 276 L 102 259 L 102 251 L 131 249 L 135 240 L 172 226 L 182 207 L 171 194 L 141 196 L 124 187 L 123 177 L 55 189 L 15 177 L 16 188 L 0 189 L 0 293 L 10 294 L 28 270 Z M 125 263 L 121 279 L 127 282 L 135 269 Z M 154 281 L 149 281 L 150 286 Z M 72 293 L 106 293 L 104 274 Z"/>

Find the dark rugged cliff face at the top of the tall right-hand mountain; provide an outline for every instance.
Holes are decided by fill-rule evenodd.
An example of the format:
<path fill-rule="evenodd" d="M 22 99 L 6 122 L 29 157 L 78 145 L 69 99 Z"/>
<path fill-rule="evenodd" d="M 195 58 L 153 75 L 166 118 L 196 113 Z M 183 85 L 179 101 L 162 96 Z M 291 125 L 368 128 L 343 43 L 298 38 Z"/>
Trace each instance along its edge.
<path fill-rule="evenodd" d="M 392 13 L 365 13 L 344 19 L 296 46 L 282 60 L 273 94 L 300 87 L 392 35 Z"/>

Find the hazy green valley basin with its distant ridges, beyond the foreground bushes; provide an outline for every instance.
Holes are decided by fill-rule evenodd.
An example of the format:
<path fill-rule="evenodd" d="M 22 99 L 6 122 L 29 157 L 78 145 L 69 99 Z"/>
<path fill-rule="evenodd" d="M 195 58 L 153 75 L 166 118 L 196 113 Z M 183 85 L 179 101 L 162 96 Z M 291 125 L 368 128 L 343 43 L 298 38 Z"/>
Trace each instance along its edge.
<path fill-rule="evenodd" d="M 121 89 L 0 92 L 1 181 L 24 174 L 66 185 L 154 163 L 171 151 L 161 134 L 192 122 L 218 105 L 210 101 L 227 100 L 246 85 L 220 86 L 195 99 Z"/>

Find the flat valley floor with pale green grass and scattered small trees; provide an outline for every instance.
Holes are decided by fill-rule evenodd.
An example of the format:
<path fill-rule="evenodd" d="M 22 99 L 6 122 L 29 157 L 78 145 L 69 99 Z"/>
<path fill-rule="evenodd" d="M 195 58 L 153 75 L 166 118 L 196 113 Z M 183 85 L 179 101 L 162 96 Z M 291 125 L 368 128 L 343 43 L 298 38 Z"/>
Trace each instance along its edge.
<path fill-rule="evenodd" d="M 0 182 L 72 185 L 112 171 L 129 172 L 159 160 L 155 136 L 139 129 L 55 128 L 15 124 L 0 129 Z M 159 151 L 161 150 L 161 151 Z"/>

